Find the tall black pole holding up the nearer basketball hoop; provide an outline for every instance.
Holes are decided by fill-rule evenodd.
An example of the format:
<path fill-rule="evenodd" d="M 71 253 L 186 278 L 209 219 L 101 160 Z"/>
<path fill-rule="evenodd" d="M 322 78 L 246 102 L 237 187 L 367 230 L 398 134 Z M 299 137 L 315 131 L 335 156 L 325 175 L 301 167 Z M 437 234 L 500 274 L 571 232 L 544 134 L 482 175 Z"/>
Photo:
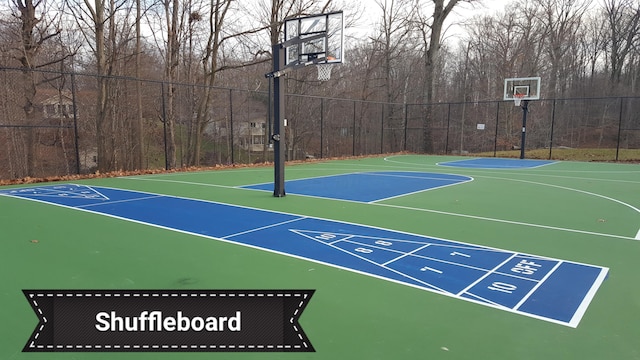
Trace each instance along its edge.
<path fill-rule="evenodd" d="M 277 73 L 284 68 L 285 51 L 282 44 L 272 47 L 273 72 Z M 283 197 L 284 191 L 284 163 L 285 163 L 285 128 L 284 128 L 284 86 L 280 76 L 273 77 L 273 163 L 274 181 L 273 196 Z"/>

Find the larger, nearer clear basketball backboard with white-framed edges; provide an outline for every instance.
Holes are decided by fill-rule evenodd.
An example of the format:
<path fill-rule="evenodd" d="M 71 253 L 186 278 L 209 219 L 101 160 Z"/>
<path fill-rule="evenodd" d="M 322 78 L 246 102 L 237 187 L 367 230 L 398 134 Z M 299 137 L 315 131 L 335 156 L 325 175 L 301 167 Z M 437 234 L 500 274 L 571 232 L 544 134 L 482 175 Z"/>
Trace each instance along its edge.
<path fill-rule="evenodd" d="M 342 11 L 285 20 L 284 37 L 285 43 L 301 40 L 286 47 L 285 66 L 309 61 L 341 63 L 344 59 Z"/>

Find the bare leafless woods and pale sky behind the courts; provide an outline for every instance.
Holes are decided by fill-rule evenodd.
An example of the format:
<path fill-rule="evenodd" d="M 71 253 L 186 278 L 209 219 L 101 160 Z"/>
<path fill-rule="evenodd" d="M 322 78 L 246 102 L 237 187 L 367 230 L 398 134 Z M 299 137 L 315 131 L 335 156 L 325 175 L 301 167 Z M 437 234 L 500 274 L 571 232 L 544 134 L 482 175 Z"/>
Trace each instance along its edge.
<path fill-rule="evenodd" d="M 286 77 L 290 160 L 516 148 L 528 76 L 527 148 L 640 148 L 638 1 L 487 2 L 11 0 L 0 179 L 269 161 L 271 44 L 335 10 L 345 63 Z"/>

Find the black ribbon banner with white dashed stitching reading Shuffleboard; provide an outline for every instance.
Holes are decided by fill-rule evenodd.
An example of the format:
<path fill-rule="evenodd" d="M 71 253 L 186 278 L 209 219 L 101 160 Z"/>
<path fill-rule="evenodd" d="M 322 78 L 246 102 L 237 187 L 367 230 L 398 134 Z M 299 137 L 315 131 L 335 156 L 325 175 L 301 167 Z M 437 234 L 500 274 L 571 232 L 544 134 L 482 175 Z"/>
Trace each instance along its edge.
<path fill-rule="evenodd" d="M 23 352 L 313 352 L 298 319 L 314 290 L 23 290 Z"/>

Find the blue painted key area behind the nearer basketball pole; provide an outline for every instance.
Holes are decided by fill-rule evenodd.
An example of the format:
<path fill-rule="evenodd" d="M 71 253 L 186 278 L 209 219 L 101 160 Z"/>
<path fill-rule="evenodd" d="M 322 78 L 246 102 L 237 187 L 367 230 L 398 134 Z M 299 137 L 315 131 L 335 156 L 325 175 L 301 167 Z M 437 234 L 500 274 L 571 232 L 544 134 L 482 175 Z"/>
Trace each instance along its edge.
<path fill-rule="evenodd" d="M 472 181 L 468 176 L 410 171 L 378 171 L 287 180 L 287 194 L 373 203 Z M 243 186 L 273 191 L 273 182 Z"/>

